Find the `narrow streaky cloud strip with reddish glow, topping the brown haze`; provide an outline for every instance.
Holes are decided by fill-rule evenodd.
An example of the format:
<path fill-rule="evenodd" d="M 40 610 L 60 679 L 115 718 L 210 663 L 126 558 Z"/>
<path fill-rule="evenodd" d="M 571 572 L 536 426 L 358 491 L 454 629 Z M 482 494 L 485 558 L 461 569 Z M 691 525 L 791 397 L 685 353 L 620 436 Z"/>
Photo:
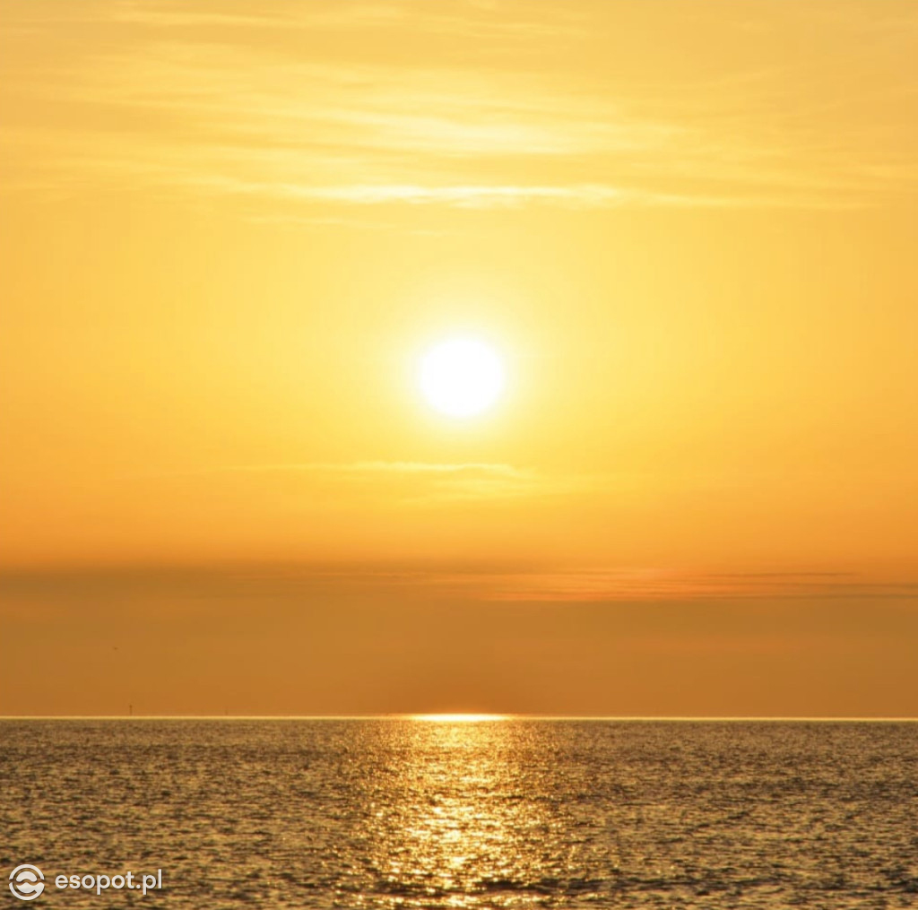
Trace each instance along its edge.
<path fill-rule="evenodd" d="M 390 470 L 386 467 L 384 470 Z M 439 471 L 436 473 L 440 473 Z M 245 562 L 199 566 L 120 566 L 6 569 L 0 591 L 26 601 L 55 592 L 80 600 L 124 590 L 161 597 L 175 590 L 226 601 L 248 597 L 373 595 L 380 601 L 504 604 L 729 603 L 755 612 L 774 605 L 837 602 L 896 604 L 913 612 L 918 581 L 848 571 L 685 572 L 659 567 L 542 568 L 492 563 L 390 559 L 369 562 Z M 229 606 L 227 609 L 231 609 Z M 887 608 L 884 608 L 887 609 Z"/>

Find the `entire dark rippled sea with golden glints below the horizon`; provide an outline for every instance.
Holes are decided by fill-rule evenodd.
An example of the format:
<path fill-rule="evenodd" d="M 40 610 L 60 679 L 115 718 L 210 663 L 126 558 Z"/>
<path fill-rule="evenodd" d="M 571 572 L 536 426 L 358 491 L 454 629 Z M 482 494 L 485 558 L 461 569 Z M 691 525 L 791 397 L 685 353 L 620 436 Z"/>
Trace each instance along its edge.
<path fill-rule="evenodd" d="M 918 724 L 7 720 L 0 786 L 35 907 L 918 906 Z"/>

